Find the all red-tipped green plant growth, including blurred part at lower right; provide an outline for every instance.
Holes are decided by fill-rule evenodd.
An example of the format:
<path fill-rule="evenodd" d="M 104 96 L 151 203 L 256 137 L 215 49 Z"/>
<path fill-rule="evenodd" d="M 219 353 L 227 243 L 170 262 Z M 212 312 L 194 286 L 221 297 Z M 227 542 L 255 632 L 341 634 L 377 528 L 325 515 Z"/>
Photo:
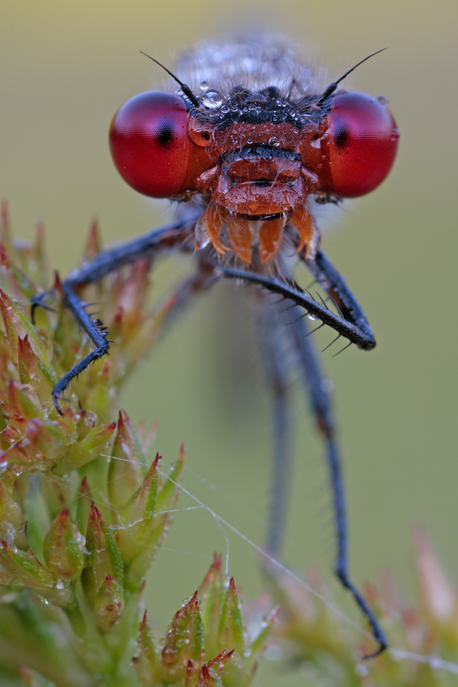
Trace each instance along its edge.
<path fill-rule="evenodd" d="M 458 684 L 457 591 L 422 533 L 416 607 L 391 578 L 380 593 L 366 590 L 396 647 L 373 661 L 358 659 L 371 639 L 336 613 L 324 582 L 272 560 L 268 591 L 242 615 L 215 555 L 154 637 L 142 591 L 176 510 L 185 453 L 164 468 L 155 428 L 135 428 L 118 403 L 173 294 L 148 307 L 148 259 L 85 289 L 114 345 L 72 382 L 59 415 L 52 388 L 90 343 L 63 307 L 58 276 L 32 324 L 31 298 L 50 286 L 43 226 L 34 241 L 15 241 L 3 205 L 0 230 L 1 687 L 243 687 L 266 646 L 276 684 L 292 667 L 307 685 Z M 98 250 L 94 223 L 83 261 Z"/>

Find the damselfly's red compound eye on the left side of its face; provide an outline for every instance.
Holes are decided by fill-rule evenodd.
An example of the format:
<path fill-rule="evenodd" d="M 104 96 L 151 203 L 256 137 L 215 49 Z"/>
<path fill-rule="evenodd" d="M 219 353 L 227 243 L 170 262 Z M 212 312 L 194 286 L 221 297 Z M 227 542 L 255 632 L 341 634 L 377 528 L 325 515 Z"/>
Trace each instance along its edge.
<path fill-rule="evenodd" d="M 188 114 L 182 98 L 148 91 L 121 105 L 109 132 L 111 156 L 124 181 L 154 198 L 182 187 L 188 164 Z"/>

